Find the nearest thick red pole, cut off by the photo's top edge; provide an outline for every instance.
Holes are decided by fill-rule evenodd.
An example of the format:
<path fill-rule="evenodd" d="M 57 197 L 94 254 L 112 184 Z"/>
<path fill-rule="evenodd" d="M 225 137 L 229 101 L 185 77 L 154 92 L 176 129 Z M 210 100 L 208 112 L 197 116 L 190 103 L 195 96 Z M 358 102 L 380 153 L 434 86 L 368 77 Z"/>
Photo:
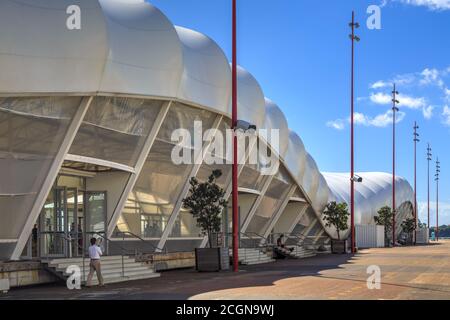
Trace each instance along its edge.
<path fill-rule="evenodd" d="M 232 0 L 232 126 L 233 126 L 233 164 L 232 164 L 232 201 L 233 201 L 233 271 L 239 271 L 239 206 L 238 206 L 238 148 L 237 148 L 237 41 L 236 41 L 236 0 Z"/>

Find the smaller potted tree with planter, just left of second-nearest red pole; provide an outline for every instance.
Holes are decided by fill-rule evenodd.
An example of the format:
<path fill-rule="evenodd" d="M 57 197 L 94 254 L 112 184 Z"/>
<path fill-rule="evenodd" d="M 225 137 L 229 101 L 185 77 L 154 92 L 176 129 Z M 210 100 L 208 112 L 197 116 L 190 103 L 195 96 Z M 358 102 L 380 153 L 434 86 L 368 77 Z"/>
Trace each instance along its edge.
<path fill-rule="evenodd" d="M 331 240 L 331 251 L 333 253 L 346 253 L 347 240 L 341 240 L 341 231 L 348 229 L 348 216 L 350 215 L 346 203 L 336 203 L 332 201 L 327 204 L 324 210 L 324 220 L 327 227 L 335 227 L 337 240 Z"/>

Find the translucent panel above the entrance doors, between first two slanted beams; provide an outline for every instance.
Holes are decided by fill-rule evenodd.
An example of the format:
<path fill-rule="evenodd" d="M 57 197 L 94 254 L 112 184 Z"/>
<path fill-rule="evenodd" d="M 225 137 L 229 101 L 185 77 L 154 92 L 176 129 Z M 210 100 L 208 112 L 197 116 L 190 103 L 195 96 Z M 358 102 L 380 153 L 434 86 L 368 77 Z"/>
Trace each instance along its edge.
<path fill-rule="evenodd" d="M 134 167 L 163 103 L 96 97 L 69 153 Z"/>

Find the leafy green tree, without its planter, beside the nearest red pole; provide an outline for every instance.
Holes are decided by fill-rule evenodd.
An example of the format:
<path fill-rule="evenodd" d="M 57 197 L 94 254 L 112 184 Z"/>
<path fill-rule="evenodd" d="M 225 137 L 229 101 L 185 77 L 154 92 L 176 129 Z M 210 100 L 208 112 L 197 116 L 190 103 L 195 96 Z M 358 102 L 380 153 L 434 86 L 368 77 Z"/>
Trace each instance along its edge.
<path fill-rule="evenodd" d="M 183 199 L 183 206 L 197 220 L 197 226 L 208 236 L 212 248 L 212 234 L 220 231 L 221 212 L 227 206 L 225 191 L 216 183 L 222 176 L 221 170 L 213 170 L 208 180 L 199 182 L 195 177 L 189 181 L 189 196 Z"/>

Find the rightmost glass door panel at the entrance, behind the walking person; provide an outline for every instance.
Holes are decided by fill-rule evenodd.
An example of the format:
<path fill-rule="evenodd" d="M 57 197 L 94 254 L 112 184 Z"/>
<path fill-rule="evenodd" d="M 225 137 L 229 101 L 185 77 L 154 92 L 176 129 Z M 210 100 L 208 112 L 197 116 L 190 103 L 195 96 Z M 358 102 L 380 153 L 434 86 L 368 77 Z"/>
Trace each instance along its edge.
<path fill-rule="evenodd" d="M 91 238 L 97 238 L 101 243 L 102 251 L 107 254 L 106 237 L 106 192 L 85 192 L 85 247 L 90 244 Z"/>

